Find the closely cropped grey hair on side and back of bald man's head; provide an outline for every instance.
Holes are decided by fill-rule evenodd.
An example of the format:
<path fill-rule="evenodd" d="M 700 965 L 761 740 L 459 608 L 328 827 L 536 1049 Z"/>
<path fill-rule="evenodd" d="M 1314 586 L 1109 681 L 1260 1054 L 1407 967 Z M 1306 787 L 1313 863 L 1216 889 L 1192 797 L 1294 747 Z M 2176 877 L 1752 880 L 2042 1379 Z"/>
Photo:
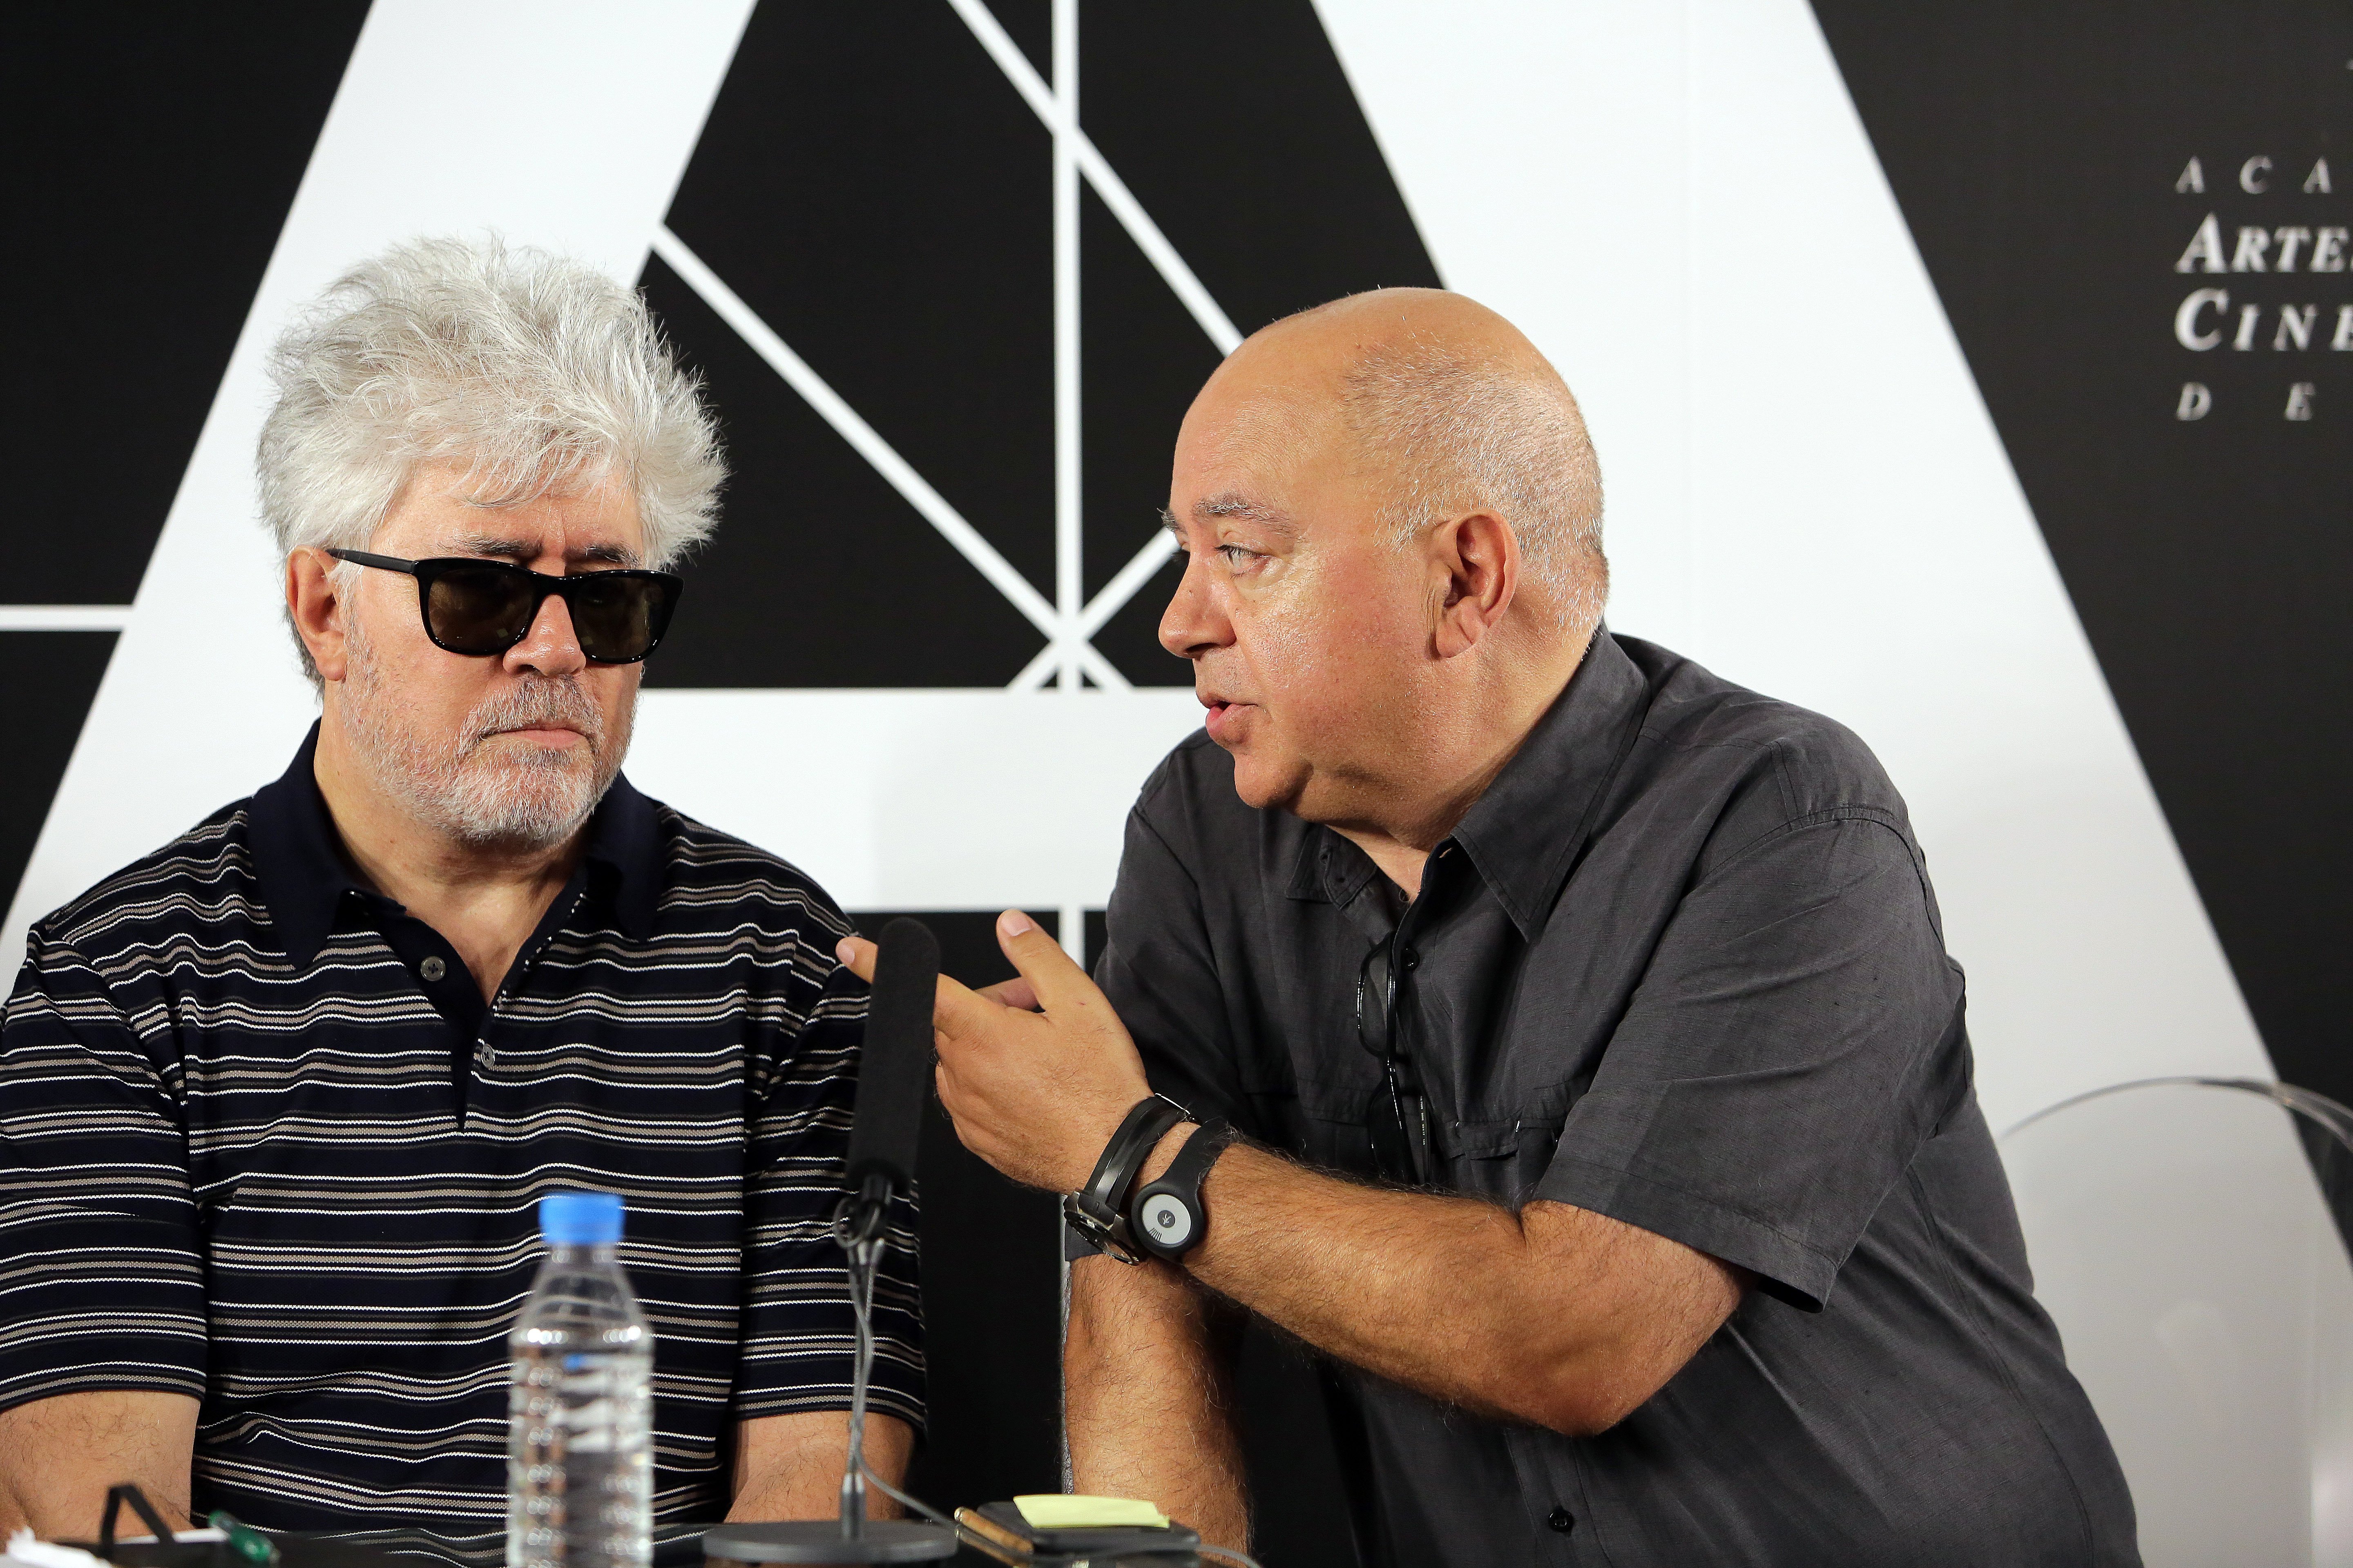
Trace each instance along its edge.
<path fill-rule="evenodd" d="M 1494 508 L 1555 623 L 1600 621 L 1602 470 L 1577 397 L 1548 364 L 1532 374 L 1407 336 L 1362 353 L 1341 404 L 1393 480 L 1384 522 L 1400 548 L 1447 515 Z"/>

